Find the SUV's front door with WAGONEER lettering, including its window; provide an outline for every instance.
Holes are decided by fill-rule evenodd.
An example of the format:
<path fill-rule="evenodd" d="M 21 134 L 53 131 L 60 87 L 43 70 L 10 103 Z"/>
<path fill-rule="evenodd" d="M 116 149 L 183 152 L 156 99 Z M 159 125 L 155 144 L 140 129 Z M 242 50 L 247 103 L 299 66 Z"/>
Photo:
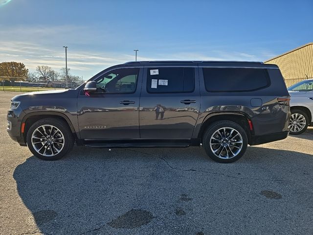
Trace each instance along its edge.
<path fill-rule="evenodd" d="M 141 71 L 141 72 L 140 72 Z M 97 93 L 78 95 L 81 139 L 137 139 L 142 69 L 115 69 L 100 75 Z"/>

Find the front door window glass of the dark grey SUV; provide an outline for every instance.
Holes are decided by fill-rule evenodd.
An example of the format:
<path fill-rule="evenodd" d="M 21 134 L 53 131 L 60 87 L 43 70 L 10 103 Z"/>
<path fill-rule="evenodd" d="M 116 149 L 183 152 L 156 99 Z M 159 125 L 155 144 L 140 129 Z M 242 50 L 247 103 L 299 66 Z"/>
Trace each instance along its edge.
<path fill-rule="evenodd" d="M 138 68 L 110 71 L 96 80 L 97 90 L 104 93 L 134 93 L 138 72 Z"/>

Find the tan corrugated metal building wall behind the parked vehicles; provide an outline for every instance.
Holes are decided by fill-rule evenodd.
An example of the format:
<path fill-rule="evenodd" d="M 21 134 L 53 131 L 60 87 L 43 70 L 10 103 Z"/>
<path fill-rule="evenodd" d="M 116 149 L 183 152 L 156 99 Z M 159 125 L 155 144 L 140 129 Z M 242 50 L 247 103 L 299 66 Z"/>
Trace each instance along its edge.
<path fill-rule="evenodd" d="M 264 63 L 279 67 L 287 87 L 307 79 L 307 76 L 313 78 L 313 43 L 295 48 Z"/>

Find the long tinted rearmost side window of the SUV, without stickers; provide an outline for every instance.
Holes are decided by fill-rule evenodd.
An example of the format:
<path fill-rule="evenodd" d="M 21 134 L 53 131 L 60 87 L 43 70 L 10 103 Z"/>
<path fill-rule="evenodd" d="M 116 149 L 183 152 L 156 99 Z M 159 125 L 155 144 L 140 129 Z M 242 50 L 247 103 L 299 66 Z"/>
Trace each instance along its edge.
<path fill-rule="evenodd" d="M 202 68 L 205 89 L 208 92 L 246 92 L 268 87 L 265 69 Z"/>

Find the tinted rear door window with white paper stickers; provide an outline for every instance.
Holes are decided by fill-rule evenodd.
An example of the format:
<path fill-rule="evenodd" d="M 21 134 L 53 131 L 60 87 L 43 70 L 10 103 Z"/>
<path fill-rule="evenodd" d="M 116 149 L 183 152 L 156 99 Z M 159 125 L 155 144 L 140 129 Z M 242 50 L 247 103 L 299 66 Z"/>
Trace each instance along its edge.
<path fill-rule="evenodd" d="M 148 68 L 149 93 L 188 93 L 195 89 L 193 68 Z"/>

